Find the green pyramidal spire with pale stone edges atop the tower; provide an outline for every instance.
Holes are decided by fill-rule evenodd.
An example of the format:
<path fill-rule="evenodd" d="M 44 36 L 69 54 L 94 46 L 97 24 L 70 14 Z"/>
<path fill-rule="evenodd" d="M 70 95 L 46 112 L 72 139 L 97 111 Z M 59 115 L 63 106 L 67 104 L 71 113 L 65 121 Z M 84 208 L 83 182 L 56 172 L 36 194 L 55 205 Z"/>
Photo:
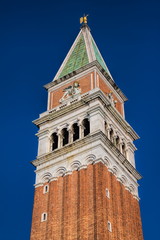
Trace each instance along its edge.
<path fill-rule="evenodd" d="M 111 77 L 105 61 L 103 60 L 103 57 L 90 33 L 89 27 L 85 25 L 80 30 L 54 80 L 64 77 L 65 75 L 72 73 L 73 71 L 84 67 L 95 60 L 99 62 L 102 68 Z"/>

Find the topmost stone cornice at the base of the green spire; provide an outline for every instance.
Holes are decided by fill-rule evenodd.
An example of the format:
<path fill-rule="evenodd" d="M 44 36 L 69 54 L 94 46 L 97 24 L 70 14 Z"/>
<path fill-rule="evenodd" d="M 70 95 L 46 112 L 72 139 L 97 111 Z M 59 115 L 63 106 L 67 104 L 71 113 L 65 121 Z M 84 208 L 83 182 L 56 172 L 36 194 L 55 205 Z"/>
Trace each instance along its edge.
<path fill-rule="evenodd" d="M 49 88 L 51 88 L 61 82 L 64 82 L 67 79 L 69 79 L 73 76 L 76 76 L 77 74 L 79 74 L 93 66 L 96 66 L 99 69 L 99 71 L 103 74 L 103 76 L 106 78 L 106 80 L 111 84 L 111 86 L 115 89 L 115 91 L 120 95 L 120 97 L 123 99 L 123 101 L 127 101 L 128 100 L 127 97 L 124 95 L 124 93 L 118 87 L 118 85 L 114 82 L 114 80 L 111 78 L 111 76 L 102 68 L 102 66 L 99 64 L 99 62 L 97 60 L 95 60 L 91 63 L 88 63 L 84 67 L 81 67 L 81 68 L 77 69 L 76 71 L 73 71 L 72 73 L 67 74 L 66 76 L 64 76 L 62 78 L 56 79 L 52 82 L 49 82 L 48 84 L 44 85 L 44 88 L 46 90 L 48 90 Z"/>

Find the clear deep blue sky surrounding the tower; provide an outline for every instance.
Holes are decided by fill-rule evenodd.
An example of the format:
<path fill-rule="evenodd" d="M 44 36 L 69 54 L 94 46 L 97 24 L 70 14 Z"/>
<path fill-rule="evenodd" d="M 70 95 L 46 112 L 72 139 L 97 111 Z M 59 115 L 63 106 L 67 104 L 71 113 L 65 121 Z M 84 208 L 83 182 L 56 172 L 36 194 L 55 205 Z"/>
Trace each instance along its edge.
<path fill-rule="evenodd" d="M 0 236 L 28 240 L 37 132 L 50 82 L 79 32 L 89 26 L 108 68 L 129 101 L 126 119 L 135 144 L 145 240 L 159 239 L 160 2 L 155 0 L 0 1 L 1 198 Z"/>

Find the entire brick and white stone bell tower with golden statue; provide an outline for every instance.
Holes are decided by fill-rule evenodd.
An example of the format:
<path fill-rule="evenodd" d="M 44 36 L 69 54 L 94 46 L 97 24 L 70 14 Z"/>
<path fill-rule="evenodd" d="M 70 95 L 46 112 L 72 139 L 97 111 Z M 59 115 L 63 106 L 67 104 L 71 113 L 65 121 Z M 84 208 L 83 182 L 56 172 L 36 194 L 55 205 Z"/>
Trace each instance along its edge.
<path fill-rule="evenodd" d="M 87 25 L 48 91 L 39 128 L 31 240 L 143 240 L 126 96 Z"/>

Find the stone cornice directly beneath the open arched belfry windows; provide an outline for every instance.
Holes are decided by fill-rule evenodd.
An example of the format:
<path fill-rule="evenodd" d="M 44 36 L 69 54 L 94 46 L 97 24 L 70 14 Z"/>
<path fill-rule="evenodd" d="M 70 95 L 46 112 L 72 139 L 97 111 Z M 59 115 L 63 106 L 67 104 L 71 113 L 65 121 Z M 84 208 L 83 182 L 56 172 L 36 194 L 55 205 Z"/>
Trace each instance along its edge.
<path fill-rule="evenodd" d="M 57 157 L 63 156 L 68 152 L 79 149 L 82 146 L 87 145 L 89 143 L 93 143 L 97 140 L 99 140 L 100 142 L 103 142 L 104 146 L 110 149 L 110 151 L 114 154 L 114 156 L 117 157 L 119 163 L 121 163 L 125 167 L 125 169 L 129 174 L 131 174 L 137 180 L 140 180 L 142 178 L 142 176 L 138 173 L 138 171 L 124 157 L 124 155 L 121 154 L 121 152 L 114 146 L 114 144 L 106 137 L 106 135 L 102 131 L 97 131 L 93 134 L 90 134 L 84 137 L 83 139 L 77 140 L 74 143 L 68 144 L 60 149 L 57 149 L 43 156 L 39 156 L 37 159 L 33 160 L 31 163 L 35 167 L 40 166 L 43 163 L 54 160 Z"/>

